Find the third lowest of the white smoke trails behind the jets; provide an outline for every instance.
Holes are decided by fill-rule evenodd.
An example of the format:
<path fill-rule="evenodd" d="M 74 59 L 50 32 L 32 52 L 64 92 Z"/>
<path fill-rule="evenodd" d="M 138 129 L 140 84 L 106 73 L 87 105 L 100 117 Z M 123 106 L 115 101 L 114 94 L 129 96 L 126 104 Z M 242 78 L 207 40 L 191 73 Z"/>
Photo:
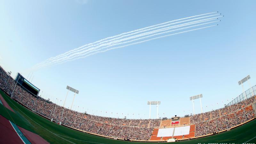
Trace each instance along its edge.
<path fill-rule="evenodd" d="M 218 18 L 218 17 L 214 17 L 215 19 Z M 187 26 L 187 25 L 192 25 L 192 24 L 196 24 L 196 23 L 200 23 L 200 22 L 206 22 L 206 21 L 210 21 L 210 20 L 214 20 L 214 18 L 209 18 L 209 19 L 204 19 L 204 20 L 197 20 L 197 21 L 193 21 L 193 22 L 188 22 L 188 23 L 184 23 L 184 24 L 180 24 L 180 25 L 176 25 L 176 26 L 171 26 L 171 27 L 167 27 L 167 28 L 161 28 L 161 29 L 157 29 L 157 30 L 154 30 L 154 31 L 149 31 L 149 32 L 146 32 L 146 33 L 142 33 L 142 34 L 139 34 L 139 35 L 135 35 L 135 36 L 131 36 L 131 37 L 127 37 L 127 38 L 124 38 L 124 39 L 121 39 L 121 40 L 117 40 L 117 41 L 114 41 L 112 42 L 112 45 L 111 44 L 108 44 L 107 47 L 110 47 L 110 46 L 113 46 L 113 45 L 116 45 L 114 43 L 117 43 L 117 42 L 120 42 L 120 41 L 125 41 L 125 40 L 129 40 L 129 39 L 132 39 L 132 38 L 137 38 L 137 37 L 140 37 L 140 36 L 145 36 L 145 35 L 149 35 L 149 34 L 153 34 L 153 33 L 156 33 L 156 32 L 161 32 L 161 31 L 165 31 L 165 30 L 168 30 L 168 29 L 172 29 L 172 28 L 178 28 L 178 27 L 183 27 L 183 26 Z M 99 48 L 101 47 L 102 45 L 100 46 L 97 46 L 97 47 L 94 47 L 94 48 L 91 48 L 91 49 L 87 49 L 83 52 L 87 52 L 87 51 L 91 51 L 93 49 L 96 49 L 96 48 Z M 71 55 L 68 55 L 66 57 L 62 57 L 62 58 L 59 58 L 57 60 L 52 60 L 48 63 L 54 63 L 54 62 L 57 62 L 57 61 L 62 61 L 62 60 L 65 60 L 69 57 L 72 57 L 74 55 L 77 55 L 77 54 L 80 54 L 81 52 L 76 52 L 76 53 L 73 53 Z M 47 64 L 47 63 L 46 63 Z M 44 64 L 41 64 L 41 66 L 43 66 Z M 48 64 L 47 64 L 48 65 Z M 39 68 L 41 67 L 39 66 Z"/>

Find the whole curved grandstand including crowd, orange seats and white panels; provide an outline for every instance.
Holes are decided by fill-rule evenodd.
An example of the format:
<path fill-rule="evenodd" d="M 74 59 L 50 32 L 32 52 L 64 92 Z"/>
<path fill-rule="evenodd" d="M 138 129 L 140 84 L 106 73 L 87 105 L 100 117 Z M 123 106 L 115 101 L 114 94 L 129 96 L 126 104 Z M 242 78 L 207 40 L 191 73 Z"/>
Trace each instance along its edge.
<path fill-rule="evenodd" d="M 0 88 L 12 93 L 15 81 L 0 67 Z M 16 86 L 12 99 L 34 113 L 77 131 L 130 141 L 189 140 L 229 131 L 255 119 L 255 89 L 251 95 L 224 108 L 171 119 L 125 119 L 94 116 L 59 106 Z M 62 112 L 64 113 L 62 115 Z"/>

